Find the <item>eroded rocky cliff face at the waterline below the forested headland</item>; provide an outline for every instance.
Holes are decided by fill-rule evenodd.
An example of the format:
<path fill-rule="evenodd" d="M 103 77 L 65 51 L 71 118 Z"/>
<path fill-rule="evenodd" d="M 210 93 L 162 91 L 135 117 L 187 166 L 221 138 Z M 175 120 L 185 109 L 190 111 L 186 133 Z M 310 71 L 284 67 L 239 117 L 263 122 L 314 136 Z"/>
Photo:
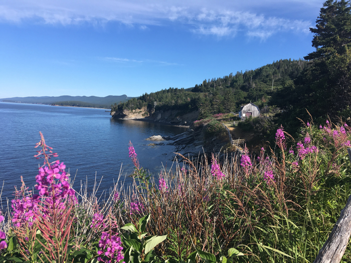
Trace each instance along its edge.
<path fill-rule="evenodd" d="M 199 111 L 193 111 L 187 114 L 181 114 L 178 110 L 169 111 L 154 111 L 150 113 L 147 111 L 146 107 L 141 110 L 129 111 L 123 110 L 123 112 L 111 113 L 112 118 L 116 119 L 135 119 L 135 120 L 145 120 L 152 122 L 162 122 L 172 125 L 185 125 L 190 126 L 199 117 Z"/>

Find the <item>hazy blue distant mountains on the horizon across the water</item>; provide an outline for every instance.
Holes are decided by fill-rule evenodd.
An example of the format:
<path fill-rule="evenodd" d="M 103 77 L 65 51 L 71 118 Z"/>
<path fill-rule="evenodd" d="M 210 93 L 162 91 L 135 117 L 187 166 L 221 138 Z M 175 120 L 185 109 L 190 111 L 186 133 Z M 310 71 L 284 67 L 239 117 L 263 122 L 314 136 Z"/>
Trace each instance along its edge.
<path fill-rule="evenodd" d="M 59 97 L 13 97 L 3 98 L 3 102 L 18 102 L 18 103 L 35 103 L 35 104 L 53 104 L 61 106 L 78 106 L 78 107 L 111 107 L 115 103 L 126 101 L 130 99 L 127 95 L 121 96 L 59 96 Z"/>

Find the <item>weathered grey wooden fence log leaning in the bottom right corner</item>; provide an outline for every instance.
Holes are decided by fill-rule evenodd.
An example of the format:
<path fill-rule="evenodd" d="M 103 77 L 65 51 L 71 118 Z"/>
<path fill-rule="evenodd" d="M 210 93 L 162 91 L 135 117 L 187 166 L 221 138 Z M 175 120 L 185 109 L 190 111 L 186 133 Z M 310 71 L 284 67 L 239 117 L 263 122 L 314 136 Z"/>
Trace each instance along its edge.
<path fill-rule="evenodd" d="M 347 149 L 351 161 L 351 148 Z M 339 263 L 351 235 L 351 195 L 313 263 Z"/>

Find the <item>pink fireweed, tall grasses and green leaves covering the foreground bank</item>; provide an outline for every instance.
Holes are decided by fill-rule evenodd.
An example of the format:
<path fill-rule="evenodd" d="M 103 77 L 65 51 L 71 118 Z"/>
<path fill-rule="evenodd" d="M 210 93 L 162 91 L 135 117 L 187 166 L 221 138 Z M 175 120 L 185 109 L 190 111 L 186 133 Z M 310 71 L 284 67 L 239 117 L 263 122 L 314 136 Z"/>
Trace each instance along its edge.
<path fill-rule="evenodd" d="M 158 183 L 138 163 L 134 183 L 99 201 L 74 191 L 45 144 L 36 192 L 24 185 L 1 223 L 3 262 L 312 262 L 351 193 L 351 129 L 303 124 L 295 140 L 280 127 L 259 156 L 184 158 Z M 239 153 L 237 153 L 239 154 Z M 0 218 L 4 219 L 4 218 Z M 351 260 L 347 247 L 343 262 Z"/>

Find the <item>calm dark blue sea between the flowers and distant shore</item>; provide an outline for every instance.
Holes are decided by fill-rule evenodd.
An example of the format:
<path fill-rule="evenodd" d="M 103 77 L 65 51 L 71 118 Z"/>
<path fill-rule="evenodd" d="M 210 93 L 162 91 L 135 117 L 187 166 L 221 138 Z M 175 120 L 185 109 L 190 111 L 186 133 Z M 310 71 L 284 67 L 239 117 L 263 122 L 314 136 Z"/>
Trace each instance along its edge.
<path fill-rule="evenodd" d="M 71 176 L 76 175 L 74 188 L 88 179 L 93 186 L 95 174 L 102 178 L 100 193 L 116 181 L 122 166 L 122 180 L 130 183 L 128 175 L 133 165 L 128 155 L 129 140 L 133 143 L 140 165 L 157 174 L 163 165 L 172 164 L 173 146 L 147 146 L 144 139 L 151 135 L 175 135 L 187 129 L 156 123 L 113 120 L 103 109 L 55 107 L 48 105 L 0 102 L 0 190 L 2 204 L 13 198 L 15 185 L 21 186 L 21 176 L 27 186 L 35 185 L 38 164 L 35 144 L 39 131 L 46 144 L 59 154 Z M 52 160 L 56 160 L 52 159 Z M 5 208 L 5 207 L 4 207 Z"/>

